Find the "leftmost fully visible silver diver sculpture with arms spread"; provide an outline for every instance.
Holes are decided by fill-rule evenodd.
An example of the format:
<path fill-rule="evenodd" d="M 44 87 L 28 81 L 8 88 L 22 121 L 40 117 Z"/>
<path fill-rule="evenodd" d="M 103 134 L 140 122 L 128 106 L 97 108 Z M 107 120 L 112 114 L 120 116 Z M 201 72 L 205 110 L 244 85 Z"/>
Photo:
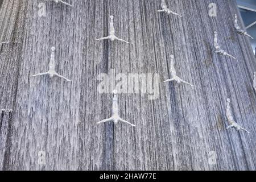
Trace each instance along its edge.
<path fill-rule="evenodd" d="M 33 75 L 33 76 L 35 77 L 35 76 L 49 75 L 49 77 L 51 77 L 51 78 L 53 76 L 57 76 L 57 77 L 60 77 L 60 78 L 64 78 L 67 81 L 71 81 L 71 80 L 68 80 L 68 78 L 65 78 L 64 76 L 59 75 L 55 71 L 55 47 L 52 47 L 51 49 L 52 49 L 52 53 L 51 53 L 51 59 L 49 61 L 49 71 L 44 72 L 44 73 L 38 73 L 38 74 Z"/>

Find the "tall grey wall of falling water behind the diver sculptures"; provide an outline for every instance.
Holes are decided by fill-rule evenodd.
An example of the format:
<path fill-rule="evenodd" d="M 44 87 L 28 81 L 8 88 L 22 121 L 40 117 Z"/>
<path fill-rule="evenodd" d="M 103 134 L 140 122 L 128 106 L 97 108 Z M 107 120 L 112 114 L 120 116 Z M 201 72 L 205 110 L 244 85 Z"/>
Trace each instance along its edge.
<path fill-rule="evenodd" d="M 0 169 L 255 170 L 256 61 L 249 40 L 233 30 L 235 1 L 214 1 L 217 17 L 205 0 L 166 0 L 183 17 L 156 13 L 156 0 L 45 2 L 46 16 L 39 2 L 0 5 L 0 42 L 20 43 L 0 45 L 0 108 L 14 110 L 11 120 L 8 111 L 1 115 Z M 95 40 L 109 35 L 110 15 L 115 34 L 130 44 Z M 236 60 L 213 53 L 214 31 Z M 72 82 L 32 77 L 48 69 L 52 46 L 56 72 Z M 177 75 L 195 88 L 163 83 L 171 55 Z M 97 90 L 97 76 L 110 69 L 160 75 L 156 100 L 118 95 L 120 117 L 136 127 L 96 125 L 111 115 L 113 95 Z M 225 130 L 228 97 L 250 136 Z M 208 164 L 210 151 L 217 166 Z"/>

